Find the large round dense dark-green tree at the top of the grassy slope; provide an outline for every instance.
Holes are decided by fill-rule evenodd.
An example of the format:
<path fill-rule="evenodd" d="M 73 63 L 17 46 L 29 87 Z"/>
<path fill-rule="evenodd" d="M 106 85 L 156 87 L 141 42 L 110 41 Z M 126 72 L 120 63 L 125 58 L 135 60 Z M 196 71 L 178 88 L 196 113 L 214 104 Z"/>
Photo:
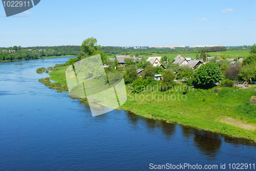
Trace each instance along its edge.
<path fill-rule="evenodd" d="M 222 72 L 216 63 L 207 62 L 194 72 L 195 84 L 199 86 L 212 86 L 222 79 Z"/>

